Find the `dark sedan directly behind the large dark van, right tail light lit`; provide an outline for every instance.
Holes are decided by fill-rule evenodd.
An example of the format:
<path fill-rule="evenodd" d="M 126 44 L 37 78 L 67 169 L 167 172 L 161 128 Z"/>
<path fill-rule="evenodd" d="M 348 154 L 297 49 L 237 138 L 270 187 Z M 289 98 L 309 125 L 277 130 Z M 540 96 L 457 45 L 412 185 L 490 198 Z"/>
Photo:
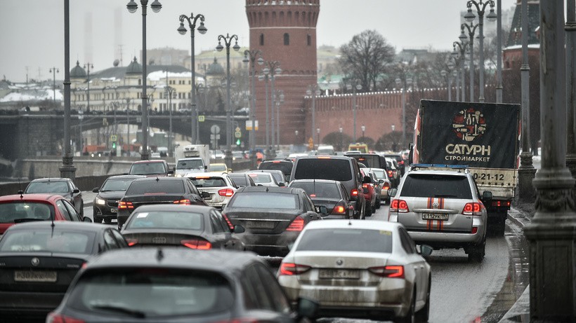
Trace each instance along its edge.
<path fill-rule="evenodd" d="M 339 181 L 328 179 L 296 179 L 288 187 L 302 188 L 314 202 L 316 212 L 325 206 L 323 219 L 354 219 L 354 204 L 348 191 Z"/>

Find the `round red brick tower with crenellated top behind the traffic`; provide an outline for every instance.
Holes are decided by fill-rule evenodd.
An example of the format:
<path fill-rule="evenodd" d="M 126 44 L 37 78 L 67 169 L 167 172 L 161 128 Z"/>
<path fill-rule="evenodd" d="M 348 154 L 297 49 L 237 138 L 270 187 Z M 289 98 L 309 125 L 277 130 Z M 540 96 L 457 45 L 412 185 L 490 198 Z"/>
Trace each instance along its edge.
<path fill-rule="evenodd" d="M 246 0 L 250 49 L 261 50 L 266 61 L 280 62 L 275 90 L 284 91 L 280 104 L 280 144 L 303 144 L 306 129 L 304 96 L 316 76 L 316 23 L 320 0 Z M 256 75 L 264 66 L 256 65 Z M 266 144 L 265 81 L 256 80 L 256 146 Z M 270 93 L 270 83 L 268 83 Z M 270 99 L 268 104 L 271 105 Z M 317 121 L 318 122 L 318 121 Z M 299 131 L 296 137 L 295 130 Z"/>

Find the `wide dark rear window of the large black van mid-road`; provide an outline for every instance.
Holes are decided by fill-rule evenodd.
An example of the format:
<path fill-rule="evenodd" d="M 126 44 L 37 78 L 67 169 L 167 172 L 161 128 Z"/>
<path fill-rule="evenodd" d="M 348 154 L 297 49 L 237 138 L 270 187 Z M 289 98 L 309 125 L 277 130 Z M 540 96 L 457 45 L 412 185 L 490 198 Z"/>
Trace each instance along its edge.
<path fill-rule="evenodd" d="M 303 158 L 298 160 L 294 179 L 331 179 L 350 181 L 352 179 L 350 160 L 332 158 Z"/>

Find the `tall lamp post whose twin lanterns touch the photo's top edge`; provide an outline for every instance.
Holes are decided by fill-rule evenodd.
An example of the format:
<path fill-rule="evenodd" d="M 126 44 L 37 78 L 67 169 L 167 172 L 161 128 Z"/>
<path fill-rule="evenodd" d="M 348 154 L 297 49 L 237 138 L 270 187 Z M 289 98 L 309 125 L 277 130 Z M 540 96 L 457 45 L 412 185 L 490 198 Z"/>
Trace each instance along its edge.
<path fill-rule="evenodd" d="M 142 6 L 142 153 L 140 159 L 148 160 L 148 95 L 146 88 L 146 9 L 148 0 L 140 0 L 140 5 Z M 138 4 L 134 0 L 130 0 L 126 8 L 129 13 L 135 13 L 138 10 Z M 158 13 L 162 9 L 162 4 L 160 4 L 160 1 L 154 0 L 150 4 L 150 8 L 155 13 Z"/>

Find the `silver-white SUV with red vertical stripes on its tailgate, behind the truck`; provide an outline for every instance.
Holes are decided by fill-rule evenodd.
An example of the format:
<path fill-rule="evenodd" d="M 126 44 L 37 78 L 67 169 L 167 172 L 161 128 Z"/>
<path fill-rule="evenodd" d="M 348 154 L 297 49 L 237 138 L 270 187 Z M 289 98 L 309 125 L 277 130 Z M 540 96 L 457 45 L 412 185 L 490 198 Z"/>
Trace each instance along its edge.
<path fill-rule="evenodd" d="M 403 224 L 417 244 L 435 249 L 464 248 L 470 261 L 482 261 L 487 212 L 466 166 L 412 165 L 392 196 L 388 221 Z"/>

